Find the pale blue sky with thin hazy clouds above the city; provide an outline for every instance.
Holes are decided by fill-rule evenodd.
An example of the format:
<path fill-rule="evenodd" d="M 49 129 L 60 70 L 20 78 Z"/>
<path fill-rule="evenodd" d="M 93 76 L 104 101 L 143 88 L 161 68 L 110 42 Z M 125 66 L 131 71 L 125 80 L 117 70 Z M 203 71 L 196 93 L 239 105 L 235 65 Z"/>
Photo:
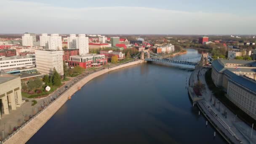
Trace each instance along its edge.
<path fill-rule="evenodd" d="M 256 34 L 256 0 L 0 2 L 0 33 Z"/>

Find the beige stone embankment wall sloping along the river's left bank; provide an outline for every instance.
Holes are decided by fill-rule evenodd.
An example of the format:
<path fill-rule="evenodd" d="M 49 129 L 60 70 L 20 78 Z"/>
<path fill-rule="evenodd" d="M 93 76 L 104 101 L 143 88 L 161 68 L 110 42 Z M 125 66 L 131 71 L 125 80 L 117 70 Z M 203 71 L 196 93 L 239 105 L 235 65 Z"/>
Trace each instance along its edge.
<path fill-rule="evenodd" d="M 43 111 L 38 113 L 35 116 L 35 118 L 26 122 L 26 125 L 24 125 L 23 128 L 21 128 L 19 131 L 13 134 L 13 136 L 8 136 L 9 139 L 7 139 L 4 143 L 5 144 L 26 143 L 62 107 L 62 105 L 66 103 L 66 101 L 69 99 L 70 96 L 72 96 L 75 92 L 80 90 L 80 88 L 83 87 L 83 85 L 88 83 L 93 78 L 98 77 L 99 75 L 103 75 L 115 69 L 120 69 L 123 67 L 135 65 L 135 64 L 141 64 L 144 62 L 145 61 L 143 60 L 137 60 L 137 61 L 128 62 L 126 64 L 120 64 L 118 66 L 111 67 L 109 69 L 103 69 L 101 71 L 94 72 L 91 75 L 88 75 L 82 78 L 75 85 L 73 85 L 67 91 L 65 91 L 61 96 L 59 96 L 58 99 L 56 99 L 53 103 L 48 105 Z"/>

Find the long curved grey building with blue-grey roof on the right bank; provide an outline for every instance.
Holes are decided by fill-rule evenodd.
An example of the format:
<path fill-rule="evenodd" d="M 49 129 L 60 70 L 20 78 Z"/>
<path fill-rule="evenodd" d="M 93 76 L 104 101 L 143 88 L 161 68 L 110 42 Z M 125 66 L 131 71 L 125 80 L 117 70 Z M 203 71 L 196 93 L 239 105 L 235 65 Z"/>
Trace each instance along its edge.
<path fill-rule="evenodd" d="M 218 59 L 213 61 L 212 67 L 213 83 L 256 120 L 256 61 Z"/>

